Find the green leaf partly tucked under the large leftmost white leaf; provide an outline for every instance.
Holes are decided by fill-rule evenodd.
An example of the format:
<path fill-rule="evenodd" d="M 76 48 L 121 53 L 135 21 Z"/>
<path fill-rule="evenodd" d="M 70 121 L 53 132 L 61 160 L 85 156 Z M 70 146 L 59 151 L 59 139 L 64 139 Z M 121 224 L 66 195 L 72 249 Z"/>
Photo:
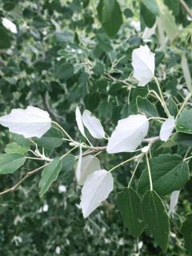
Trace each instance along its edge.
<path fill-rule="evenodd" d="M 34 142 L 36 142 L 38 146 L 42 146 L 45 149 L 48 149 L 48 150 L 54 149 L 62 145 L 62 142 L 63 142 L 62 131 L 58 130 L 55 127 L 52 127 L 50 128 L 50 130 L 46 132 L 46 134 L 42 136 L 42 138 L 34 138 Z"/>

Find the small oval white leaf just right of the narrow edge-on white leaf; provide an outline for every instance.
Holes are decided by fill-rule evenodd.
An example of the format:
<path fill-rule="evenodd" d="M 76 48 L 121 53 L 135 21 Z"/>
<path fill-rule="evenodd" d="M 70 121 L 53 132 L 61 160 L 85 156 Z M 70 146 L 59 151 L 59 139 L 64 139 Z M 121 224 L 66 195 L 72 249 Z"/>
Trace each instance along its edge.
<path fill-rule="evenodd" d="M 98 118 L 95 118 L 89 110 L 83 111 L 82 122 L 94 138 L 105 138 L 105 131 L 103 130 L 101 122 Z"/>

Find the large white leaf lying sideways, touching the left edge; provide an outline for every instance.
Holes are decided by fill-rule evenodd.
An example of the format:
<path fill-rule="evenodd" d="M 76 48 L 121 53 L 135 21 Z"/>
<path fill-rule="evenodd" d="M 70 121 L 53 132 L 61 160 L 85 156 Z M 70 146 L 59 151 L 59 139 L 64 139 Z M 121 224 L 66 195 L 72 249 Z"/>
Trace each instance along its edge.
<path fill-rule="evenodd" d="M 0 118 L 0 124 L 9 128 L 14 134 L 22 134 L 25 138 L 41 138 L 50 130 L 50 115 L 38 107 L 27 106 L 26 110 L 14 109 L 10 114 Z"/>

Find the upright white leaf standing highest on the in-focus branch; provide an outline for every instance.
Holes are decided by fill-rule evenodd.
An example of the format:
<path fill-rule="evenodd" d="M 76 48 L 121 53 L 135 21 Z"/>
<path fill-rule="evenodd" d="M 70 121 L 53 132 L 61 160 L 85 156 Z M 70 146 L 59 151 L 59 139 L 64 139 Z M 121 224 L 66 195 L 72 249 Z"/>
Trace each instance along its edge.
<path fill-rule="evenodd" d="M 148 46 L 140 46 L 133 50 L 131 64 L 139 86 L 146 86 L 154 78 L 154 53 Z"/>

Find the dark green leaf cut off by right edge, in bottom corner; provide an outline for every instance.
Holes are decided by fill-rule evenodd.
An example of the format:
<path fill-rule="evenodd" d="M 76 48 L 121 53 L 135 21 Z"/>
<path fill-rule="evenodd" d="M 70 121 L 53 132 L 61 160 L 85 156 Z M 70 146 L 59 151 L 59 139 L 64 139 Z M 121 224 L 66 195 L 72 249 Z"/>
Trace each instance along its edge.
<path fill-rule="evenodd" d="M 186 214 L 186 220 L 182 223 L 181 233 L 184 236 L 184 246 L 192 254 L 192 213 Z"/>

